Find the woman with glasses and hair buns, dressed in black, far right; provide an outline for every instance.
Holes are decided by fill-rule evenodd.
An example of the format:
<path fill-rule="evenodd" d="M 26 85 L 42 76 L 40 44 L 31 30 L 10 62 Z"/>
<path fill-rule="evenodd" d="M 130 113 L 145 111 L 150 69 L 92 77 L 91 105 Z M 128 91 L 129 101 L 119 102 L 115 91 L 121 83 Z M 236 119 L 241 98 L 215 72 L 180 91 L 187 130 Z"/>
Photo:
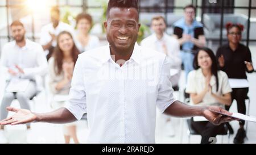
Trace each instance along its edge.
<path fill-rule="evenodd" d="M 226 30 L 228 31 L 228 44 L 223 45 L 217 50 L 218 65 L 221 70 L 228 74 L 229 78 L 247 80 L 246 72 L 252 73 L 254 69 L 251 62 L 250 49 L 240 43 L 243 26 L 241 24 L 228 23 L 226 24 Z M 232 100 L 236 99 L 238 112 L 246 114 L 245 99 L 249 88 L 233 88 L 232 90 Z M 230 106 L 225 108 L 229 110 Z M 244 143 L 246 137 L 244 125 L 245 122 L 241 121 L 240 128 L 233 141 L 234 143 Z M 233 129 L 231 127 L 230 129 L 232 132 Z"/>

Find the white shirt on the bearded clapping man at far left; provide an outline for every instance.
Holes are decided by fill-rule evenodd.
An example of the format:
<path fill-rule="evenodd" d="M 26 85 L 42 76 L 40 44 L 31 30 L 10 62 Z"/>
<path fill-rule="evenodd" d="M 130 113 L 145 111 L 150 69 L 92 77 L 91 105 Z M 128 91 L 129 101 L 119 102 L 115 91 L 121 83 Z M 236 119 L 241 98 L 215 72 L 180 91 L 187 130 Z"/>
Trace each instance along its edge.
<path fill-rule="evenodd" d="M 26 45 L 22 48 L 16 44 L 16 41 L 11 41 L 3 46 L 1 56 L 2 69 L 7 74 L 9 68 L 18 72 L 15 65 L 18 65 L 24 71 L 24 74 L 20 75 L 20 77 L 29 79 L 43 76 L 47 73 L 48 67 L 42 46 L 28 39 L 26 39 Z M 7 78 L 11 78 L 11 76 L 9 75 Z"/>

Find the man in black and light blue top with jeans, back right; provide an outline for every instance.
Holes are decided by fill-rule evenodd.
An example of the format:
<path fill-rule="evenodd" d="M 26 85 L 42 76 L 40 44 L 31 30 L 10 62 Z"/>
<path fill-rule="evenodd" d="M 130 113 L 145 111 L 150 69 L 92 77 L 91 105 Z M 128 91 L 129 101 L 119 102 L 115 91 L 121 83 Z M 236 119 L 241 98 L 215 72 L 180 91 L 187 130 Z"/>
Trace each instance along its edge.
<path fill-rule="evenodd" d="M 193 70 L 195 52 L 206 44 L 203 24 L 195 20 L 195 10 L 192 5 L 185 6 L 184 18 L 174 23 L 174 36 L 179 39 L 186 79 Z"/>

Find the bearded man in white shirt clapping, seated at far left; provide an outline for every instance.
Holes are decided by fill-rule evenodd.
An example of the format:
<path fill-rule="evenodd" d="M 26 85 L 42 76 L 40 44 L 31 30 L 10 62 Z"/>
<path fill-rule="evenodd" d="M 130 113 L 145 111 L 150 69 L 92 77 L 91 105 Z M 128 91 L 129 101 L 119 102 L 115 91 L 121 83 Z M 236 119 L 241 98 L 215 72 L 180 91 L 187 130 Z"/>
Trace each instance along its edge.
<path fill-rule="evenodd" d="M 10 83 L 24 82 L 22 91 L 6 91 L 1 104 L 1 119 L 6 118 L 6 107 L 16 98 L 21 108 L 30 109 L 29 99 L 36 94 L 36 76 L 47 72 L 47 60 L 40 44 L 25 38 L 26 30 L 21 22 L 15 21 L 10 26 L 14 41 L 2 49 L 1 67 L 7 73 L 7 86 Z M 26 84 L 28 83 L 28 84 Z M 17 88 L 20 89 L 20 88 Z M 23 88 L 21 88 L 23 89 Z M 29 127 L 29 126 L 28 126 Z"/>

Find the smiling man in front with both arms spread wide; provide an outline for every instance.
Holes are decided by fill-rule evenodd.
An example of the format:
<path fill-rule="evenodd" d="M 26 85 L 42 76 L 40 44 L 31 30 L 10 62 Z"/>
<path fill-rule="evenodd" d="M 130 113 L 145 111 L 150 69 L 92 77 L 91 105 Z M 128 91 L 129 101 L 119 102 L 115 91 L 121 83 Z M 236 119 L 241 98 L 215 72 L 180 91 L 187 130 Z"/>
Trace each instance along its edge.
<path fill-rule="evenodd" d="M 233 120 L 174 99 L 166 55 L 136 43 L 138 2 L 110 0 L 106 28 L 109 45 L 82 53 L 73 73 L 69 105 L 46 114 L 16 112 L 0 122 L 69 123 L 88 115 L 88 143 L 155 143 L 156 107 L 172 116 L 205 116 L 213 124 Z"/>

